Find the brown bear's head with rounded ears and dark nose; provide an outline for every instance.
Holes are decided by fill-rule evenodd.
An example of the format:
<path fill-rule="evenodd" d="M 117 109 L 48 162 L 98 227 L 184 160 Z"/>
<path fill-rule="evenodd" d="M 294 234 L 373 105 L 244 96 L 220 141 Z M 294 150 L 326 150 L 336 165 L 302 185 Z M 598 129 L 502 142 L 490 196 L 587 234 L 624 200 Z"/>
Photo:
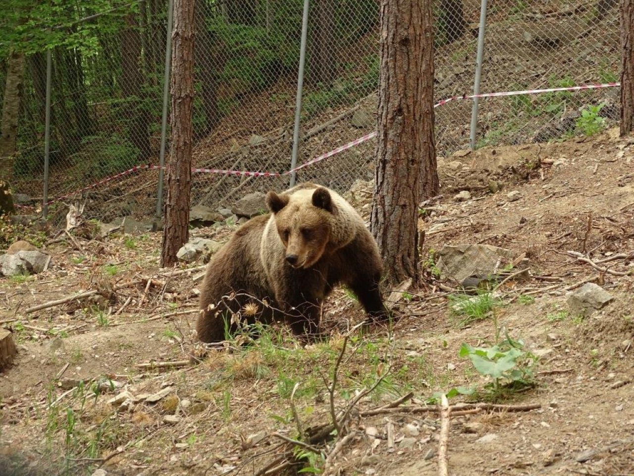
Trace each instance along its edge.
<path fill-rule="evenodd" d="M 327 188 L 297 190 L 292 195 L 271 191 L 266 206 L 275 218 L 287 263 L 301 269 L 319 261 L 330 239 L 335 209 Z"/>

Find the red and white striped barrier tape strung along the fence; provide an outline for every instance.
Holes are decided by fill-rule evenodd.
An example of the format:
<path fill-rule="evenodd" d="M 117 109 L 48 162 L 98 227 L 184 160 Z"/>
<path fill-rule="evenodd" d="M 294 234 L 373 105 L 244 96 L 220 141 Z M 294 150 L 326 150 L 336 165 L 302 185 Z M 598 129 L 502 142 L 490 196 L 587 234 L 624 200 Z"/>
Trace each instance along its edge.
<path fill-rule="evenodd" d="M 441 100 L 440 102 L 434 104 L 434 109 L 436 109 L 439 106 L 445 105 L 446 103 L 452 102 L 452 101 L 456 101 L 459 99 L 473 99 L 473 98 L 496 98 L 496 97 L 502 97 L 502 96 L 519 96 L 519 95 L 527 95 L 527 94 L 540 94 L 540 93 L 557 93 L 560 91 L 582 91 L 583 89 L 600 89 L 600 88 L 614 88 L 616 86 L 621 86 L 621 83 L 602 83 L 602 84 L 585 84 L 583 86 L 569 86 L 566 88 L 548 88 L 548 89 L 525 89 L 524 91 L 505 91 L 505 92 L 501 92 L 501 93 L 481 93 L 481 94 L 475 94 L 475 95 L 462 95 L 462 96 L 451 96 L 450 98 L 446 98 Z M 254 177 L 280 177 L 280 176 L 284 176 L 284 175 L 291 175 L 292 173 L 301 170 L 303 168 L 306 168 L 307 166 L 313 165 L 316 162 L 320 162 L 323 161 L 324 159 L 328 159 L 329 157 L 332 157 L 333 155 L 337 155 L 340 152 L 343 152 L 344 150 L 348 150 L 348 149 L 352 149 L 353 147 L 356 147 L 357 145 L 363 143 L 363 142 L 367 142 L 368 140 L 371 140 L 373 138 L 375 138 L 377 136 L 377 131 L 371 132 L 369 134 L 366 134 L 363 137 L 359 137 L 358 139 L 353 140 L 352 142 L 348 142 L 347 144 L 344 144 L 340 147 L 337 147 L 337 149 L 333 149 L 330 152 L 326 152 L 325 154 L 322 155 L 318 155 L 317 157 L 314 157 L 314 159 L 311 159 L 307 162 L 304 162 L 303 164 L 290 169 L 286 172 L 252 172 L 252 171 L 246 171 L 246 170 L 224 170 L 224 169 L 201 169 L 201 168 L 192 168 L 191 171 L 192 173 L 217 173 L 217 174 L 221 174 L 221 175 L 240 175 L 240 176 L 254 176 Z M 46 202 L 47 205 L 53 203 L 53 202 L 57 202 L 57 201 L 61 201 L 65 198 L 68 197 L 72 197 L 72 195 L 77 195 L 77 194 L 81 194 L 82 192 L 85 192 L 86 190 L 90 190 L 91 188 L 94 187 L 98 187 L 99 185 L 103 185 L 104 183 L 110 182 L 112 180 L 115 180 L 116 178 L 120 178 L 124 175 L 129 175 L 131 173 L 137 172 L 139 170 L 157 170 L 157 169 L 167 169 L 167 167 L 161 167 L 158 165 L 138 165 L 138 166 L 134 166 L 131 169 L 128 169 L 126 171 L 120 172 L 117 175 L 113 175 L 111 177 L 108 178 L 104 178 L 103 180 L 100 180 L 99 182 L 95 182 L 91 185 L 88 185 L 87 187 L 81 188 L 80 190 L 76 190 L 75 192 L 70 192 L 68 194 L 65 195 L 61 195 L 61 197 L 58 197 L 56 199 L 52 199 L 48 202 Z M 32 208 L 32 207 L 27 207 L 27 206 L 20 206 L 22 208 Z"/>

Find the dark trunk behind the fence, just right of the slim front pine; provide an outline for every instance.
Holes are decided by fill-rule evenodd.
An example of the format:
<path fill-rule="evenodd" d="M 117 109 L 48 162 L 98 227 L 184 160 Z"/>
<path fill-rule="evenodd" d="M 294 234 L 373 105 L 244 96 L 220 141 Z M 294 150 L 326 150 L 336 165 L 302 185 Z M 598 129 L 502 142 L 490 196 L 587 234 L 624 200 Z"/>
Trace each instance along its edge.
<path fill-rule="evenodd" d="M 201 99 L 205 110 L 205 124 L 196 131 L 197 137 L 209 134 L 220 122 L 216 89 L 220 73 L 224 69 L 224 53 L 217 37 L 207 29 L 207 18 L 210 7 L 199 4 L 196 15 L 196 48 L 194 49 L 194 63 L 198 71 L 196 78 L 201 86 Z"/>

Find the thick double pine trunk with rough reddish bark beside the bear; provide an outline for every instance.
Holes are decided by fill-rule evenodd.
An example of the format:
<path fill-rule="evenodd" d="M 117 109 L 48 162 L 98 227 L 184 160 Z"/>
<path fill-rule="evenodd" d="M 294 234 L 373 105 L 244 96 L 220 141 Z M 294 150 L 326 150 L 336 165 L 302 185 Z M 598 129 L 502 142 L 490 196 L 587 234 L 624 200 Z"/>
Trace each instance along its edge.
<path fill-rule="evenodd" d="M 382 0 L 372 234 L 391 282 L 418 273 L 418 202 L 438 189 L 431 0 Z"/>

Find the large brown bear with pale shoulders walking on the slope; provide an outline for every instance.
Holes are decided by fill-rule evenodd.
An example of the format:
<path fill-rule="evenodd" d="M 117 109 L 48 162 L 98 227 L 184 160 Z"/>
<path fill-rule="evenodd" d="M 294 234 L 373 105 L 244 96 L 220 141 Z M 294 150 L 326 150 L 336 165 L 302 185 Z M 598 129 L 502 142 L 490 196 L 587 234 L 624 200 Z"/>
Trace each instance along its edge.
<path fill-rule="evenodd" d="M 346 200 L 302 183 L 268 192 L 266 206 L 271 213 L 242 225 L 207 265 L 201 341 L 225 340 L 240 310 L 247 324 L 283 317 L 296 336 L 318 336 L 321 305 L 337 284 L 350 288 L 373 319 L 389 317 L 379 292 L 377 243 Z"/>

